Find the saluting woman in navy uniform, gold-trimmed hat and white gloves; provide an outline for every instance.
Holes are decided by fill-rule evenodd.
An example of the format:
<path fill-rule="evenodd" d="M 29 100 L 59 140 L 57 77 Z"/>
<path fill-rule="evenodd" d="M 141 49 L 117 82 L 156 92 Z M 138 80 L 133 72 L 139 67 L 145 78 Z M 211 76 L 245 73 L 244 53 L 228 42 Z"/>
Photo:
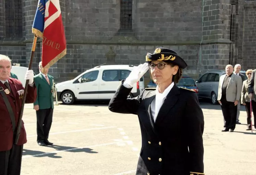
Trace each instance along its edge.
<path fill-rule="evenodd" d="M 203 112 L 194 91 L 176 86 L 186 66 L 173 50 L 157 48 L 122 81 L 109 103 L 112 112 L 138 115 L 142 148 L 136 175 L 204 174 Z M 127 98 L 148 69 L 157 87 Z"/>

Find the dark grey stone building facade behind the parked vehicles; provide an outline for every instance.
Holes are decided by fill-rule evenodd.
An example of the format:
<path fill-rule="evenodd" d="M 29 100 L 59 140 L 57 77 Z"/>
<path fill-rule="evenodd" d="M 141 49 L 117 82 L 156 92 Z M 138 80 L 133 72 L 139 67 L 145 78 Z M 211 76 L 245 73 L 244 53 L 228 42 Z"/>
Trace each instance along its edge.
<path fill-rule="evenodd" d="M 37 0 L 0 0 L 0 54 L 28 66 Z M 57 82 L 100 64 L 145 62 L 156 47 L 174 49 L 185 73 L 240 63 L 256 68 L 256 0 L 60 0 L 67 54 L 50 68 Z M 33 70 L 38 72 L 41 40 Z"/>

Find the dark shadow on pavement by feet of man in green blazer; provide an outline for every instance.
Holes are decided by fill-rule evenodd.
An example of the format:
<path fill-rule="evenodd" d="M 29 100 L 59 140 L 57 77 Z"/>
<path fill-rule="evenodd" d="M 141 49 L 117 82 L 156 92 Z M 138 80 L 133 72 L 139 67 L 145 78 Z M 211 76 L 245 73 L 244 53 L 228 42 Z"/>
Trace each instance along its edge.
<path fill-rule="evenodd" d="M 33 157 L 62 158 L 61 156 L 56 156 L 56 154 L 59 151 L 98 153 L 96 151 L 93 151 L 93 149 L 91 149 L 91 148 L 76 148 L 76 147 L 60 146 L 60 145 L 52 145 L 52 146 L 47 146 L 47 147 L 54 148 L 55 150 L 52 152 L 43 152 L 43 151 L 23 149 L 23 156 L 30 155 Z"/>

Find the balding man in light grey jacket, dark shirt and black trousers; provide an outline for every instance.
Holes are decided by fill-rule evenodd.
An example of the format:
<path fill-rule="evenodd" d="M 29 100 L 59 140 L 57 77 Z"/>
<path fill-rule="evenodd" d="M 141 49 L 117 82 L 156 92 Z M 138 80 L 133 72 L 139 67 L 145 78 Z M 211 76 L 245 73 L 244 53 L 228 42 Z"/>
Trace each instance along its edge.
<path fill-rule="evenodd" d="M 220 77 L 218 101 L 224 117 L 222 132 L 233 132 L 236 124 L 237 104 L 241 98 L 242 78 L 233 74 L 233 66 L 228 64 L 226 74 Z"/>

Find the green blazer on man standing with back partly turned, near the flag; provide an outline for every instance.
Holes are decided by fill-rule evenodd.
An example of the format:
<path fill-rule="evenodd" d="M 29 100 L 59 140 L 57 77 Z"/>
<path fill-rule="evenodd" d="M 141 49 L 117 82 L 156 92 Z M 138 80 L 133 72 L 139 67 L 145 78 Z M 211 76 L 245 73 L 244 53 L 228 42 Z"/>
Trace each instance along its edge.
<path fill-rule="evenodd" d="M 34 82 L 37 89 L 37 97 L 34 105 L 39 105 L 39 110 L 54 108 L 52 96 L 53 76 L 48 74 L 50 85 L 41 73 L 34 76 Z"/>

